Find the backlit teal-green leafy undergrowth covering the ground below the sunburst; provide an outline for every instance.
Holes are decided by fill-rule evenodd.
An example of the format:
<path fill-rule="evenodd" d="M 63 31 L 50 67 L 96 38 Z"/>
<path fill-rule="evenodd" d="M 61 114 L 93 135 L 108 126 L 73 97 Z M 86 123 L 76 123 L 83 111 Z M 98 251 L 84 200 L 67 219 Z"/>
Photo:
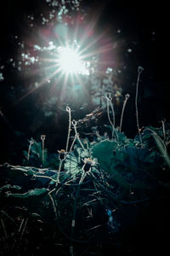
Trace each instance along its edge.
<path fill-rule="evenodd" d="M 126 242 L 129 227 L 135 224 L 138 229 L 142 212 L 149 218 L 150 208 L 160 201 L 163 204 L 169 193 L 167 127 L 163 131 L 162 127 L 145 127 L 142 144 L 139 136 L 129 139 L 118 130 L 116 139 L 95 131 L 92 142 L 86 138 L 71 146 L 60 173 L 58 153 L 55 169 L 45 151 L 42 168 L 42 143 L 35 141 L 29 166 L 1 166 L 3 252 L 10 252 L 7 242 L 12 241 L 17 253 L 26 250 L 23 243 L 31 246 L 31 252 L 42 252 L 43 231 L 51 240 L 50 247 L 62 255 L 69 250 L 80 253 L 80 247 L 85 255 L 104 255 L 105 243 L 116 252 L 127 252 L 131 247 L 136 253 Z M 158 141 L 166 146 L 164 152 Z M 25 155 L 28 160 L 28 153 Z M 83 171 L 86 159 L 94 161 L 88 172 Z M 37 239 L 38 249 L 29 236 L 34 225 L 42 239 Z"/>

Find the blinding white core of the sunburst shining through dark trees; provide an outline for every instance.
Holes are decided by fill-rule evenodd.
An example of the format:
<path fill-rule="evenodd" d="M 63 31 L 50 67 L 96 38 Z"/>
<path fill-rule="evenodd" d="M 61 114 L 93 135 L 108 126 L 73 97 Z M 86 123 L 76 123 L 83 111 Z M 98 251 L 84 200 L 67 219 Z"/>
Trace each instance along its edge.
<path fill-rule="evenodd" d="M 88 75 L 88 68 L 86 63 L 81 60 L 77 49 L 70 47 L 58 47 L 59 51 L 59 67 L 64 73 L 85 74 Z"/>

